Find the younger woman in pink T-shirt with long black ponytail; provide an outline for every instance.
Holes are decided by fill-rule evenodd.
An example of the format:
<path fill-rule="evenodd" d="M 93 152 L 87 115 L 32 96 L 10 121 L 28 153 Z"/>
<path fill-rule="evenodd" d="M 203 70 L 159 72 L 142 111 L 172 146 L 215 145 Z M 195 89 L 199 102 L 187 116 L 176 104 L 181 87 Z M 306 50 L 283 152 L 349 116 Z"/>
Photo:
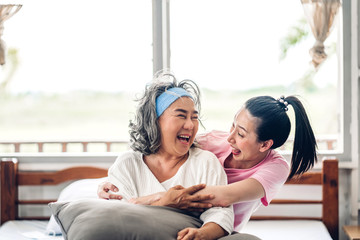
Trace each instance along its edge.
<path fill-rule="evenodd" d="M 289 136 L 289 105 L 295 112 L 290 169 L 274 150 Z M 294 96 L 277 100 L 269 96 L 251 98 L 235 115 L 230 133 L 212 131 L 198 135 L 197 141 L 202 149 L 218 157 L 229 183 L 208 186 L 200 193 L 214 194 L 214 205 L 234 204 L 237 231 L 261 204 L 270 203 L 287 179 L 308 171 L 317 161 L 314 133 L 303 105 Z"/>

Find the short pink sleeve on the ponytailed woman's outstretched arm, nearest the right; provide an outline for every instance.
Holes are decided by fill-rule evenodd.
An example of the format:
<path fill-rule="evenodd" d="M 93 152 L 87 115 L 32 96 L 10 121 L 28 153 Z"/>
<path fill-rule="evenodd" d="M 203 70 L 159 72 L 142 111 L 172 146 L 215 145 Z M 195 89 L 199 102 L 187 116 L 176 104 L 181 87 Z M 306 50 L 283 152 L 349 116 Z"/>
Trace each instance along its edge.
<path fill-rule="evenodd" d="M 258 180 L 265 190 L 265 196 L 261 198 L 264 206 L 269 205 L 286 182 L 288 176 L 289 165 L 282 160 L 266 164 L 251 176 L 251 178 Z"/>

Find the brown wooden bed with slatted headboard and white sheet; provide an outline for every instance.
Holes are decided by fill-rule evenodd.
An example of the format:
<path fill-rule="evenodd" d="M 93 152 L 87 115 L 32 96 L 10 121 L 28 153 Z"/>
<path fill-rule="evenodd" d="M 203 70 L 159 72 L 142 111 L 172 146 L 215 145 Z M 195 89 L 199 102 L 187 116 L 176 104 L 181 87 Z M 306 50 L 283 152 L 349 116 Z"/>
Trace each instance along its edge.
<path fill-rule="evenodd" d="M 72 167 L 56 172 L 19 171 L 16 159 L 3 159 L 0 165 L 1 173 L 1 227 L 0 239 L 63 239 L 61 235 L 49 235 L 46 229 L 49 225 L 48 216 L 22 216 L 19 209 L 23 205 L 47 205 L 55 199 L 22 199 L 19 188 L 23 186 L 54 186 L 59 184 L 76 184 L 80 179 L 101 180 L 107 175 L 107 170 L 89 166 Z M 339 236 L 339 206 L 338 206 L 338 160 L 324 159 L 320 171 L 304 174 L 299 179 L 288 181 L 286 185 L 318 185 L 321 188 L 319 200 L 274 199 L 270 206 L 302 205 L 305 208 L 312 205 L 321 206 L 321 216 L 281 216 L 254 214 L 246 225 L 248 232 L 262 239 L 334 239 Z M 75 182 L 74 182 L 75 181 Z M 70 185 L 71 185 L 70 184 Z M 98 184 L 98 182 L 94 182 Z M 62 191 L 61 194 L 64 194 Z M 60 197 L 61 197 L 60 194 Z M 94 195 L 94 194 L 93 194 Z M 304 195 L 304 194 L 303 194 Z M 51 221 L 51 219 L 50 219 Z M 291 237 L 289 237 L 291 236 Z"/>

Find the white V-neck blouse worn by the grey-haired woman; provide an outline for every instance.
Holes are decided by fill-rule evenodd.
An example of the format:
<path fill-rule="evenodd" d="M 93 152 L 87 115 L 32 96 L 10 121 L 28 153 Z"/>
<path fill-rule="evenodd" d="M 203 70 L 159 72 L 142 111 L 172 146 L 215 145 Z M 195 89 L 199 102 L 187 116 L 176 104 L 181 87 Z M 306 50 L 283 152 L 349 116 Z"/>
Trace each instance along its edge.
<path fill-rule="evenodd" d="M 191 148 L 186 162 L 178 172 L 160 183 L 144 163 L 139 152 L 127 151 L 120 155 L 110 167 L 109 180 L 119 189 L 124 200 L 164 192 L 176 185 L 187 188 L 196 184 L 226 185 L 227 177 L 216 156 L 199 148 Z M 203 224 L 214 222 L 229 234 L 233 231 L 234 212 L 232 206 L 213 207 L 200 215 Z"/>

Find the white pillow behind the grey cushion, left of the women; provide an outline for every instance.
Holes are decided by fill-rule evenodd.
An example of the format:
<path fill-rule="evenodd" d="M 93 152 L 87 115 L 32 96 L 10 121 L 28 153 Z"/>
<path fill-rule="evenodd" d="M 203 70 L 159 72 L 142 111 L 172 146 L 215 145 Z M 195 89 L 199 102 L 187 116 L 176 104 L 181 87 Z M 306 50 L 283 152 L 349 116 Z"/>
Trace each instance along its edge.
<path fill-rule="evenodd" d="M 94 179 L 82 179 L 75 181 L 65 187 L 58 198 L 58 201 L 74 201 L 83 198 L 98 198 L 97 188 L 101 182 L 107 180 L 107 177 L 94 178 Z M 46 233 L 48 235 L 61 235 L 61 229 L 56 222 L 53 215 L 46 226 Z"/>

